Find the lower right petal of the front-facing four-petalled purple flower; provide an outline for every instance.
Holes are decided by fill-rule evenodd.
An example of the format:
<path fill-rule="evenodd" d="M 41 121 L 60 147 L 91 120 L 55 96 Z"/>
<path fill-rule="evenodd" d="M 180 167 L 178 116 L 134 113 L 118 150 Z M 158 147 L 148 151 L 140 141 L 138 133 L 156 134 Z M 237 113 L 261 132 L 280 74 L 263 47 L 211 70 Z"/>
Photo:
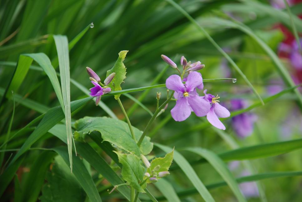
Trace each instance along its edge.
<path fill-rule="evenodd" d="M 190 96 L 188 97 L 188 103 L 190 104 L 190 107 L 193 109 L 196 116 L 199 117 L 207 115 L 211 108 L 211 104 L 198 95 L 190 94 Z"/>

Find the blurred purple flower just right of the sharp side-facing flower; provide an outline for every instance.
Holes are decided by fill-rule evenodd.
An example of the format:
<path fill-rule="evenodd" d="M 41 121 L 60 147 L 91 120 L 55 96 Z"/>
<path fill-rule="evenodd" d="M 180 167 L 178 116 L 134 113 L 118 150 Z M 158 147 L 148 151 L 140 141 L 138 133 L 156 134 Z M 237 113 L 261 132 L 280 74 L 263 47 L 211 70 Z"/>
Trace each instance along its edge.
<path fill-rule="evenodd" d="M 231 100 L 232 110 L 239 110 L 246 107 L 242 99 Z M 242 113 L 232 118 L 232 126 L 239 137 L 250 136 L 254 129 L 256 116 L 252 113 Z"/>

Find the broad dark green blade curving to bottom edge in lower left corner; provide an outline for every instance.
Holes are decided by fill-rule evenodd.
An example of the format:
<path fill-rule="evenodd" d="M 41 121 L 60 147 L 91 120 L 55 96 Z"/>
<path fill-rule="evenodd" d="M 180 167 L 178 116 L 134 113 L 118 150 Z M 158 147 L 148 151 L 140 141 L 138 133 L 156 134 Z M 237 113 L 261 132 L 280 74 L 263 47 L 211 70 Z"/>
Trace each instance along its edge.
<path fill-rule="evenodd" d="M 43 151 L 37 156 L 23 183 L 23 201 L 37 201 L 41 187 L 45 181 L 46 171 L 49 170 L 49 165 L 55 155 L 56 153 L 53 151 Z"/>

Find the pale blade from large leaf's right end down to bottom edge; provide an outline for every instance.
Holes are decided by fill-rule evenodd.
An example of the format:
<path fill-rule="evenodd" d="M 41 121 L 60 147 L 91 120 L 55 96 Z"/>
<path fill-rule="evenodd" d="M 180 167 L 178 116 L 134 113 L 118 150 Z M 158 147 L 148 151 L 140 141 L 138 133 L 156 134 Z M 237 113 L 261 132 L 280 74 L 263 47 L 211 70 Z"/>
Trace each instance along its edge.
<path fill-rule="evenodd" d="M 165 151 L 166 153 L 170 152 L 172 148 L 154 143 L 156 147 L 159 147 L 161 150 Z M 185 175 L 189 178 L 189 180 L 192 182 L 192 184 L 195 186 L 198 193 L 201 195 L 201 197 L 205 201 L 215 201 L 210 194 L 210 192 L 207 190 L 205 185 L 202 183 L 202 181 L 198 178 L 197 174 L 193 170 L 193 168 L 190 166 L 188 161 L 176 150 L 174 150 L 174 157 L 173 160 L 178 164 L 178 166 L 183 170 Z"/>

